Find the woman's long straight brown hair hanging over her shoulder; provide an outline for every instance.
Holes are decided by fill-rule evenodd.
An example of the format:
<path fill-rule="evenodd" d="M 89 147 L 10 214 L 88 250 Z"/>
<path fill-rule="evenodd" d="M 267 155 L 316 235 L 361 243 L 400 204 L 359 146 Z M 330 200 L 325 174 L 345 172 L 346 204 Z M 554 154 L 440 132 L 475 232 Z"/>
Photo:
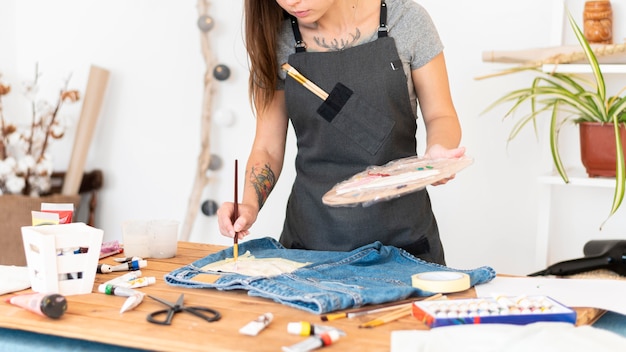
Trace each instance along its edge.
<path fill-rule="evenodd" d="M 250 60 L 248 96 L 257 111 L 274 98 L 278 82 L 276 47 L 284 18 L 274 0 L 245 0 L 245 46 Z"/>

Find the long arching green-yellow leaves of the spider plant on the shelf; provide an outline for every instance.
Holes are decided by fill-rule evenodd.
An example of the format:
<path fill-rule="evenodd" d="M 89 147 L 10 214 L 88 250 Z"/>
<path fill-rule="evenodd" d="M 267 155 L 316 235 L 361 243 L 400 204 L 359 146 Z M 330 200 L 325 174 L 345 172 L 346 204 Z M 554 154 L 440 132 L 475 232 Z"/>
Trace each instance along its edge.
<path fill-rule="evenodd" d="M 513 103 L 512 107 L 505 114 L 506 118 L 512 117 L 513 113 L 523 105 L 530 105 L 530 112 L 521 117 L 514 125 L 509 135 L 509 141 L 515 138 L 526 126 L 531 125 L 536 129 L 537 118 L 540 115 L 550 116 L 549 135 L 552 159 L 556 170 L 565 183 L 569 182 L 569 178 L 561 161 L 558 148 L 558 136 L 561 126 L 565 123 L 573 122 L 578 124 L 579 128 L 585 124 L 612 127 L 613 132 L 611 136 L 615 141 L 615 157 L 613 159 L 615 165 L 615 190 L 613 204 L 607 217 L 608 220 L 619 209 L 625 193 L 626 164 L 624 163 L 624 149 L 622 147 L 620 129 L 626 128 L 626 95 L 619 95 L 626 90 L 626 87 L 616 96 L 607 96 L 604 76 L 597 57 L 571 13 L 568 12 L 567 15 L 591 68 L 593 81 L 573 74 L 543 72 L 537 68 L 528 68 L 538 72 L 538 76 L 533 79 L 530 87 L 505 94 L 487 107 L 485 112 L 497 105 Z"/>

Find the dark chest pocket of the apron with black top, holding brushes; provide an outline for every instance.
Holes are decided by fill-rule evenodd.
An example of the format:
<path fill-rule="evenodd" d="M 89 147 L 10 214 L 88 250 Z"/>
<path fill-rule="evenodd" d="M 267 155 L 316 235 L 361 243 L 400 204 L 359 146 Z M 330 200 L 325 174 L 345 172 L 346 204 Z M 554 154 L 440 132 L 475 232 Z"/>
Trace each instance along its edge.
<path fill-rule="evenodd" d="M 335 85 L 317 113 L 372 155 L 378 153 L 395 125 L 393 119 L 341 83 Z"/>

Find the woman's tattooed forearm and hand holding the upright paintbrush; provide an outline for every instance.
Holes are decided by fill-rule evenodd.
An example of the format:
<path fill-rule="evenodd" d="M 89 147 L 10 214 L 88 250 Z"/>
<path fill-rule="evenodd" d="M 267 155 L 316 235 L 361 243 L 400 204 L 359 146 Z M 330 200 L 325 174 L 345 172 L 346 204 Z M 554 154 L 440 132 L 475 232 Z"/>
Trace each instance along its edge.
<path fill-rule="evenodd" d="M 267 107 L 258 112 L 256 134 L 245 171 L 239 218 L 232 223 L 233 203 L 225 202 L 217 211 L 220 233 L 226 237 L 249 234 L 248 230 L 276 185 L 283 168 L 289 119 L 285 92 L 276 91 Z"/>

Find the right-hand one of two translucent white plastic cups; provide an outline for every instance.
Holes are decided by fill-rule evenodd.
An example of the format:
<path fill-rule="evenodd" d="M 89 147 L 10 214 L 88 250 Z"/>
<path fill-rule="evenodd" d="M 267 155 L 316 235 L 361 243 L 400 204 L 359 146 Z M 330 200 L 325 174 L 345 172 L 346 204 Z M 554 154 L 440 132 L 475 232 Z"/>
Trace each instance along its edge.
<path fill-rule="evenodd" d="M 150 258 L 172 258 L 178 248 L 177 220 L 150 220 L 147 224 Z"/>

